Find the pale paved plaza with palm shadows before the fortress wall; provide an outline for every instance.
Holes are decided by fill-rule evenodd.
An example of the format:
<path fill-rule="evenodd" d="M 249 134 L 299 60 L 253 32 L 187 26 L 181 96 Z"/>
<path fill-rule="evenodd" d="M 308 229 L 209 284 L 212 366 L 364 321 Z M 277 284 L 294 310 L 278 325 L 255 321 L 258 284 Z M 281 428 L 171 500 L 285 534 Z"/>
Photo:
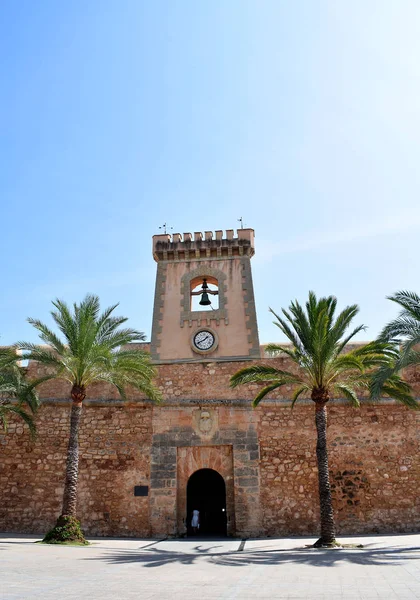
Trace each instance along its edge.
<path fill-rule="evenodd" d="M 315 538 L 36 539 L 0 535 L 1 600 L 420 598 L 420 535 L 340 538 L 364 548 L 334 550 L 308 548 Z"/>

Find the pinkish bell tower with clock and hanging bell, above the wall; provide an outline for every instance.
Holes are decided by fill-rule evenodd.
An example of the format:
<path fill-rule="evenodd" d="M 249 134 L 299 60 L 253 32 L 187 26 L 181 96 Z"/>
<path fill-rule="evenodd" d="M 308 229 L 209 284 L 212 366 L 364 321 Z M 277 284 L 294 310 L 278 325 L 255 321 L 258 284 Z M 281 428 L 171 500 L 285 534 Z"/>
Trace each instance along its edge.
<path fill-rule="evenodd" d="M 253 229 L 153 236 L 154 362 L 259 358 L 253 255 Z"/>

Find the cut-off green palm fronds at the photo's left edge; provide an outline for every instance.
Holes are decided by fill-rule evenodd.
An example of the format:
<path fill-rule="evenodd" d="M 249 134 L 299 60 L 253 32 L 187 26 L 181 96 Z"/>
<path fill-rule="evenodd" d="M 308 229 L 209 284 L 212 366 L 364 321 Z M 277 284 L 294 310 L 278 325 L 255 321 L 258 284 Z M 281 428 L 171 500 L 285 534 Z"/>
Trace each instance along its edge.
<path fill-rule="evenodd" d="M 35 388 L 39 380 L 26 380 L 26 371 L 19 365 L 20 358 L 11 348 L 0 349 L 0 426 L 7 431 L 8 417 L 16 415 L 25 421 L 34 438 L 36 426 L 33 415 L 39 406 Z"/>

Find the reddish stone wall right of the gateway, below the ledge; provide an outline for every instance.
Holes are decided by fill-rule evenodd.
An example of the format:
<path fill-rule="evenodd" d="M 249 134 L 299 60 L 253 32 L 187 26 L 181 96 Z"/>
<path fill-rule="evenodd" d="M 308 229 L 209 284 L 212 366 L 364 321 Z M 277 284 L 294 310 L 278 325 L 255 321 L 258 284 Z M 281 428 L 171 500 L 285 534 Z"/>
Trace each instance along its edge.
<path fill-rule="evenodd" d="M 331 403 L 330 481 L 342 533 L 420 529 L 420 414 L 393 404 Z M 316 534 L 314 410 L 260 409 L 261 505 L 268 535 Z"/>

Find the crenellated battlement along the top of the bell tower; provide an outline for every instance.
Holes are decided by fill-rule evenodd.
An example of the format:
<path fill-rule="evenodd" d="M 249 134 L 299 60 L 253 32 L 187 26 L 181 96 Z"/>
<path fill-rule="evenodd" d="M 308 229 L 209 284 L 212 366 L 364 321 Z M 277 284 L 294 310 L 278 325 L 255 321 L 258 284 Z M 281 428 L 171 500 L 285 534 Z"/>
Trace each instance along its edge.
<path fill-rule="evenodd" d="M 200 258 L 229 258 L 234 256 L 254 255 L 254 230 L 201 231 L 191 233 L 173 233 L 153 236 L 153 258 L 156 262 L 166 260 L 197 260 Z"/>

